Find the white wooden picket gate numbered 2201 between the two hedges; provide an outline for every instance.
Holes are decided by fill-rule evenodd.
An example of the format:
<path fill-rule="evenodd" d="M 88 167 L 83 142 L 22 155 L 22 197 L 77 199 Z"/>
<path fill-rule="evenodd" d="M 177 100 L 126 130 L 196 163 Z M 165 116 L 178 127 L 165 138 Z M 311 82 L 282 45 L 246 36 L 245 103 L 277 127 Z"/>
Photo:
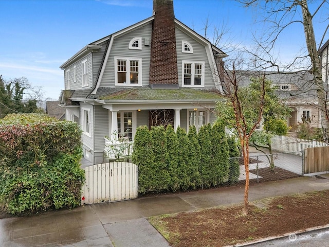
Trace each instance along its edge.
<path fill-rule="evenodd" d="M 137 198 L 137 166 L 128 162 L 111 162 L 84 168 L 81 204 L 115 202 Z"/>

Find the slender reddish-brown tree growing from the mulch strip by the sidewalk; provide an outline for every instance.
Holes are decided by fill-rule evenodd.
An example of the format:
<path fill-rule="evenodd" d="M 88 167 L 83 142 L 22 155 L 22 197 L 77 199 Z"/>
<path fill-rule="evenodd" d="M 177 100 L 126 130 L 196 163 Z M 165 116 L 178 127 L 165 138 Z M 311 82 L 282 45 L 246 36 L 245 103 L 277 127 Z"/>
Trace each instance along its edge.
<path fill-rule="evenodd" d="M 224 96 L 226 101 L 217 103 L 216 113 L 219 119 L 224 121 L 228 128 L 232 128 L 240 140 L 244 166 L 246 172 L 246 184 L 244 192 L 243 214 L 248 214 L 249 195 L 249 140 L 252 133 L 259 127 L 265 105 L 265 76 L 258 80 L 258 87 L 250 84 L 242 86 L 239 75 L 236 74 L 236 60 L 231 68 L 223 68 L 224 72 Z M 228 63 L 226 63 L 228 64 Z"/>

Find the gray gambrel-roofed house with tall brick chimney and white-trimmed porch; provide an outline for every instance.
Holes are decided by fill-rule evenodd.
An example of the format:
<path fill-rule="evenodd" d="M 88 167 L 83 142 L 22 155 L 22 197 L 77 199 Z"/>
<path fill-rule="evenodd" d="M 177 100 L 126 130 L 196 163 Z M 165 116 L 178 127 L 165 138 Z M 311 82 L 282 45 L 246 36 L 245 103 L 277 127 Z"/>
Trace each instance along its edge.
<path fill-rule="evenodd" d="M 213 122 L 226 56 L 175 19 L 172 0 L 154 0 L 148 19 L 83 47 L 60 67 L 61 103 L 80 122 L 84 157 L 102 163 L 104 137 L 133 140 L 138 126 Z"/>

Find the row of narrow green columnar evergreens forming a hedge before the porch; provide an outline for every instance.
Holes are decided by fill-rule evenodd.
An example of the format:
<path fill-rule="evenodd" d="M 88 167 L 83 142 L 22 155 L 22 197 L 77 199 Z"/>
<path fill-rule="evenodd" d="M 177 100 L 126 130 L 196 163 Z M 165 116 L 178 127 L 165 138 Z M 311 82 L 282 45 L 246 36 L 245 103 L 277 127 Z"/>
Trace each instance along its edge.
<path fill-rule="evenodd" d="M 139 193 L 175 192 L 209 188 L 237 181 L 239 164 L 229 164 L 225 127 L 195 127 L 189 133 L 171 126 L 137 128 L 132 161 L 139 167 Z M 235 145 L 230 141 L 230 145 Z M 235 146 L 236 147 L 236 146 Z M 231 147 L 232 150 L 234 147 Z M 230 174 L 232 172 L 232 174 Z"/>

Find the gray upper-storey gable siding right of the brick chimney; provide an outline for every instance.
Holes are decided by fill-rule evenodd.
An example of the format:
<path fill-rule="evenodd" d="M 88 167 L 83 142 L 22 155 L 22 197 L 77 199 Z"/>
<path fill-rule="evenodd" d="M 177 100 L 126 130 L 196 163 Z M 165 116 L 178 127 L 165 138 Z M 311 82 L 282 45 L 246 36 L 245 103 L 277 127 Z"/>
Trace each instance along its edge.
<path fill-rule="evenodd" d="M 189 42 L 193 47 L 193 54 L 181 52 L 181 42 Z M 214 79 L 211 72 L 211 67 L 209 64 L 209 59 L 207 56 L 206 48 L 203 44 L 198 43 L 196 40 L 192 39 L 185 32 L 176 28 L 176 50 L 177 50 L 177 68 L 178 68 L 178 84 L 181 86 L 182 78 L 182 60 L 191 61 L 204 61 L 205 62 L 205 88 L 215 88 Z"/>

